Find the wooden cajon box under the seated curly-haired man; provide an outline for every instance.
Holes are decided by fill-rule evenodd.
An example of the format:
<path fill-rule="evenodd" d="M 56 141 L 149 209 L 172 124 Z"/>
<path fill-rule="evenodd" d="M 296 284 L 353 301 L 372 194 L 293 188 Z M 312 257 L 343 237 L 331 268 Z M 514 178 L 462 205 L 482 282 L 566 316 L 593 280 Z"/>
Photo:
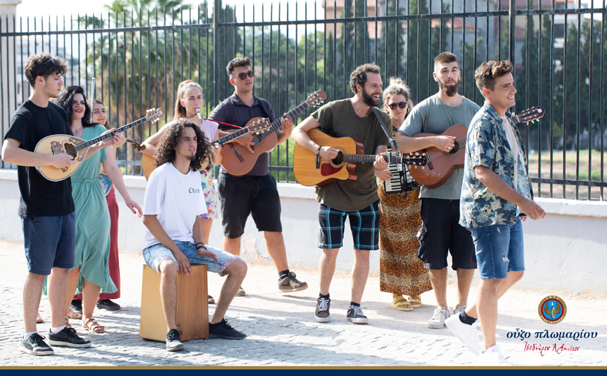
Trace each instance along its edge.
<path fill-rule="evenodd" d="M 143 265 L 139 336 L 166 342 L 166 321 L 160 301 L 160 275 Z M 177 274 L 177 328 L 181 340 L 208 338 L 206 265 L 192 265 L 192 275 Z"/>

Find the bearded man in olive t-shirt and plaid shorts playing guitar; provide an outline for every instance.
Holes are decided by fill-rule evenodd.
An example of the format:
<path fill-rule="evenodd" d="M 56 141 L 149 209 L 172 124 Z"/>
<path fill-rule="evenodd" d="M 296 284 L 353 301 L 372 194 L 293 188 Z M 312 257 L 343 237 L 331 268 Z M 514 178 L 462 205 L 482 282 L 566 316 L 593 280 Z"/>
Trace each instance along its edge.
<path fill-rule="evenodd" d="M 354 96 L 350 99 L 325 104 L 293 130 L 293 139 L 302 147 L 324 159 L 335 159 L 338 150 L 315 143 L 308 131 L 318 128 L 336 137 L 357 138 L 364 146 L 364 154 L 376 154 L 373 164 L 357 164 L 357 180 L 338 180 L 316 189 L 316 201 L 320 202 L 318 219 L 320 233 L 320 295 L 317 299 L 315 319 L 329 321 L 329 286 L 335 272 L 335 261 L 343 246 L 345 218 L 350 218 L 354 238 L 354 266 L 352 267 L 352 296 L 346 317 L 355 324 L 367 324 L 360 302 L 369 275 L 369 251 L 379 249 L 379 196 L 375 170 L 385 170 L 387 162 L 381 153 L 387 150 L 388 138 L 373 107 L 381 104 L 382 80 L 380 68 L 375 64 L 357 67 L 350 75 L 350 87 Z M 390 116 L 378 112 L 391 133 Z"/>

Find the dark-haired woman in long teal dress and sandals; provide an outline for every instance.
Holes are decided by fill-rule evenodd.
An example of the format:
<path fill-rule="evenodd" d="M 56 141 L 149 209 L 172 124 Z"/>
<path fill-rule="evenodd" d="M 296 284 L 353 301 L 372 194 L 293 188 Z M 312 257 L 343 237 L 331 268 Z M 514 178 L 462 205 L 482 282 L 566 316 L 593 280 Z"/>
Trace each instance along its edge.
<path fill-rule="evenodd" d="M 101 124 L 89 123 L 91 109 L 86 101 L 85 91 L 79 86 L 66 87 L 55 102 L 62 106 L 70 120 L 74 136 L 92 140 L 106 131 Z M 110 278 L 108 258 L 110 255 L 110 212 L 99 185 L 99 164 L 114 182 L 129 209 L 141 217 L 141 207 L 131 199 L 122 180 L 122 173 L 114 159 L 112 147 L 100 150 L 83 161 L 80 168 L 71 175 L 72 196 L 76 205 L 76 258 L 74 268 L 68 277 L 65 312 L 75 294 L 83 294 L 83 328 L 92 333 L 103 333 L 105 328 L 97 323 L 93 311 L 101 291 L 116 291 Z M 68 323 L 66 319 L 66 324 Z"/>

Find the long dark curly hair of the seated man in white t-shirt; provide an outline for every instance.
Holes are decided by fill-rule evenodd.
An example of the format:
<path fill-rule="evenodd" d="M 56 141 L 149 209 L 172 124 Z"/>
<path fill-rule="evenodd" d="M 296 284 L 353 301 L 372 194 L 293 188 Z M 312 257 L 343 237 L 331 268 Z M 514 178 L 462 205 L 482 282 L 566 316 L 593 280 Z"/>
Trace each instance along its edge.
<path fill-rule="evenodd" d="M 175 161 L 175 148 L 178 147 L 181 133 L 183 133 L 183 129 L 187 126 L 194 129 L 197 138 L 196 155 L 194 156 L 194 160 L 190 162 L 190 168 L 192 168 L 192 171 L 200 170 L 202 164 L 208 158 L 208 148 L 210 146 L 199 126 L 185 119 L 176 120 L 175 124 L 167 129 L 164 136 L 162 136 L 158 149 L 154 153 L 156 167 Z"/>

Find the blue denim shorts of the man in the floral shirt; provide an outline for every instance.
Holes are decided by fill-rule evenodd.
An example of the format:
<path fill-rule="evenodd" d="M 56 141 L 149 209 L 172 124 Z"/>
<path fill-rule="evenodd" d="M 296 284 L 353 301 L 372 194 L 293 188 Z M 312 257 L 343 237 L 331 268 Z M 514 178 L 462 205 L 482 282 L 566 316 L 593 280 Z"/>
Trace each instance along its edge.
<path fill-rule="evenodd" d="M 516 218 L 513 225 L 496 224 L 469 228 L 476 249 L 480 278 L 501 280 L 508 272 L 524 270 L 522 224 Z"/>

